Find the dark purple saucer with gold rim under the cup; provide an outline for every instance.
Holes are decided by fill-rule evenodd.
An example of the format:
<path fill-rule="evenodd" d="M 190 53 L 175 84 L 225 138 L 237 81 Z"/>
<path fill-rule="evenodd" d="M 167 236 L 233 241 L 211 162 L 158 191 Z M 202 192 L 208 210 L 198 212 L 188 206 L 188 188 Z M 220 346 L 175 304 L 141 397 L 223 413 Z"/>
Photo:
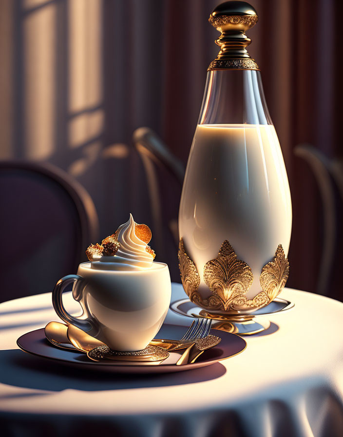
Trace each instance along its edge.
<path fill-rule="evenodd" d="M 162 325 L 156 338 L 174 338 L 179 339 L 187 331 L 188 326 L 180 325 Z M 159 364 L 153 362 L 129 362 L 111 361 L 97 362 L 91 361 L 83 353 L 76 350 L 59 349 L 53 346 L 44 335 L 44 328 L 28 332 L 18 338 L 17 344 L 20 349 L 29 354 L 42 358 L 49 358 L 58 363 L 73 365 L 87 370 L 107 371 L 114 373 L 168 373 L 191 370 L 199 367 L 210 366 L 216 362 L 240 354 L 247 347 L 246 341 L 232 333 L 211 329 L 210 334 L 221 338 L 221 342 L 204 353 L 191 364 L 176 365 L 177 360 L 183 354 L 184 350 L 170 352 L 168 358 Z"/>

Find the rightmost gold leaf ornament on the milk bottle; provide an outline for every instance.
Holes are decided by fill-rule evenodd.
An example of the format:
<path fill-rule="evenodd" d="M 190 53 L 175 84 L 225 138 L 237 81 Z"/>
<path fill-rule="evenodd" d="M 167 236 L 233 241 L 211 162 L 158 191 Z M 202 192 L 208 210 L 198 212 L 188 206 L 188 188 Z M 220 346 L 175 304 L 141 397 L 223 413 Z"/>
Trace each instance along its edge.
<path fill-rule="evenodd" d="M 285 257 L 284 249 L 279 244 L 275 257 L 263 267 L 260 275 L 261 288 L 267 294 L 269 302 L 274 300 L 285 287 L 288 275 L 288 258 Z"/>

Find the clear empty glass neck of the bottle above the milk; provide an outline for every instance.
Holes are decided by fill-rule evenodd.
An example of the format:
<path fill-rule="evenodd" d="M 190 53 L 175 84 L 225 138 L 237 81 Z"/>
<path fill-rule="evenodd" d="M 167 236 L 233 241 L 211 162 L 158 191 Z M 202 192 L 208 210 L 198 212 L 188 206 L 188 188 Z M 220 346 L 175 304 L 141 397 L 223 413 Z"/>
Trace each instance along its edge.
<path fill-rule="evenodd" d="M 210 70 L 198 124 L 273 124 L 257 70 Z"/>

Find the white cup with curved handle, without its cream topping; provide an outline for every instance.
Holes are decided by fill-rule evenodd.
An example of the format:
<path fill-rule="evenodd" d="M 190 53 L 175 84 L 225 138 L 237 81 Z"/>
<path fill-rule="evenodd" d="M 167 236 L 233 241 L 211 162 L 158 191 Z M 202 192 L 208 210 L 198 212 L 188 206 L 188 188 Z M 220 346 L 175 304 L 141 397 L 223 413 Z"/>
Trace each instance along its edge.
<path fill-rule="evenodd" d="M 63 291 L 73 282 L 73 297 L 83 310 L 78 317 L 70 315 L 62 303 Z M 130 272 L 99 270 L 84 262 L 77 275 L 60 279 L 53 291 L 57 316 L 123 352 L 147 347 L 167 315 L 170 300 L 171 278 L 162 262 Z"/>

